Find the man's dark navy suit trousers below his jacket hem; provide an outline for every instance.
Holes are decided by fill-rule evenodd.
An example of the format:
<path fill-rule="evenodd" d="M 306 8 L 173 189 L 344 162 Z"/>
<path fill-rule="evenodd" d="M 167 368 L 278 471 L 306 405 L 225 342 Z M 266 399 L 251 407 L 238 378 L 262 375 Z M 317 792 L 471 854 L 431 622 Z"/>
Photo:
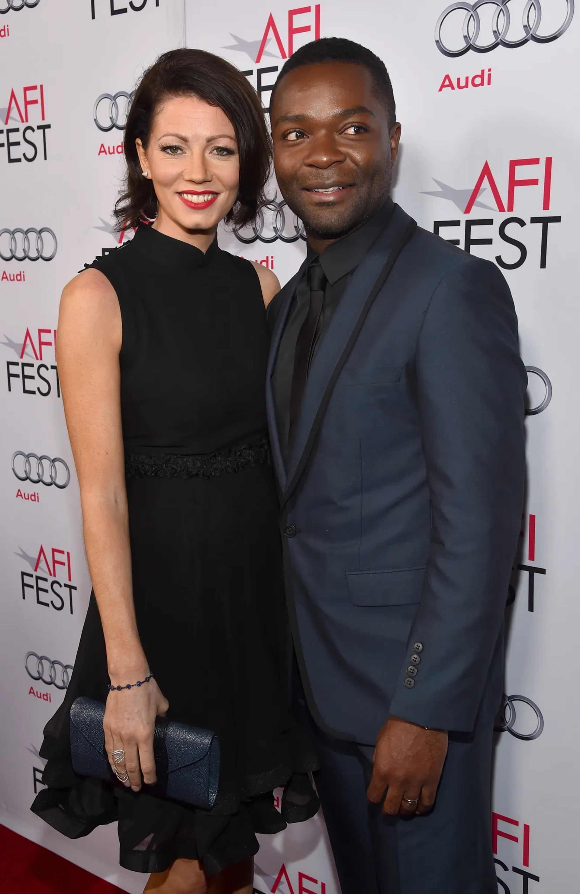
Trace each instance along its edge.
<path fill-rule="evenodd" d="M 374 747 L 333 738 L 311 719 L 321 761 L 315 784 L 342 894 L 497 894 L 491 776 L 500 671 L 497 662 L 473 732 L 450 733 L 435 805 L 423 816 L 389 817 L 370 804 Z"/>

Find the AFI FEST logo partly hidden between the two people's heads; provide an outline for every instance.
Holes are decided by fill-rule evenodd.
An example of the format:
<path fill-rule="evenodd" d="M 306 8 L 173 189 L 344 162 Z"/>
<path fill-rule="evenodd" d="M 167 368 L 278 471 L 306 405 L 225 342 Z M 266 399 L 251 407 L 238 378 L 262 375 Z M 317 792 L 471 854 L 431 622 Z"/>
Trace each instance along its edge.
<path fill-rule="evenodd" d="M 256 68 L 242 71 L 242 74 L 252 79 L 257 94 L 263 102 L 264 94 L 270 93 L 276 80 L 276 74 L 282 67 L 281 65 L 272 65 L 267 62 L 264 64 L 263 59 L 288 59 L 294 50 L 298 49 L 296 41 L 298 34 L 307 35 L 306 38 L 299 38 L 304 43 L 313 39 L 318 40 L 320 38 L 320 6 L 321 4 L 314 4 L 289 9 L 286 20 L 282 18 L 281 13 L 276 13 L 278 16 L 276 21 L 273 13 L 270 13 L 265 21 L 262 37 L 258 37 L 256 40 L 246 40 L 230 32 L 231 38 L 235 40 L 235 44 L 222 46 L 222 49 L 243 53 L 249 56 L 252 63 L 256 65 Z M 273 49 L 276 49 L 277 53 L 273 53 Z M 266 112 L 269 111 L 269 107 L 266 106 Z"/>

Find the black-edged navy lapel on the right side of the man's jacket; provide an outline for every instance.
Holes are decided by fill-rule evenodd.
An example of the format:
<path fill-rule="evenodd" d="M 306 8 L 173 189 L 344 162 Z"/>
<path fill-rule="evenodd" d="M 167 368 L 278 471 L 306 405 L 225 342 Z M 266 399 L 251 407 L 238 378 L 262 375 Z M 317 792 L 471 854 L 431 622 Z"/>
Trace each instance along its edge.
<path fill-rule="evenodd" d="M 332 392 L 334 382 L 356 340 L 360 326 L 364 323 L 370 304 L 382 285 L 382 282 L 380 285 L 377 284 L 377 278 L 383 273 L 386 279 L 400 250 L 403 249 L 415 230 L 415 226 L 415 221 L 399 206 L 395 206 L 389 224 L 374 241 L 365 259 L 353 274 L 340 299 L 338 308 L 332 316 L 332 321 L 324 333 L 324 338 L 318 345 L 307 378 L 298 417 L 296 438 L 289 460 L 288 475 L 284 474 L 284 477 L 280 478 L 282 488 L 284 488 L 282 505 L 289 499 L 290 493 L 298 484 L 306 467 L 308 455 L 312 450 L 315 434 L 322 421 L 325 405 L 330 397 L 330 392 Z M 276 327 L 278 339 L 277 342 L 273 339 L 271 358 L 275 358 L 275 352 L 278 350 L 289 308 L 290 301 L 285 303 L 284 308 L 281 308 L 278 321 L 281 325 Z M 270 396 L 273 405 L 271 389 Z"/>

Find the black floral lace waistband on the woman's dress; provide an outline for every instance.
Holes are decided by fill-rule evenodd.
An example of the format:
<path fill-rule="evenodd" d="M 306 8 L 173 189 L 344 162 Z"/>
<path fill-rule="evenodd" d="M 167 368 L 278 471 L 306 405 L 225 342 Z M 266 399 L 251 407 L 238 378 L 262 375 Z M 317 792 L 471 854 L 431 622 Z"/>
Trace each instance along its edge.
<path fill-rule="evenodd" d="M 212 478 L 223 472 L 240 472 L 249 466 L 261 466 L 268 458 L 267 440 L 237 450 L 228 448 L 214 453 L 180 456 L 125 454 L 125 475 L 130 478 Z"/>

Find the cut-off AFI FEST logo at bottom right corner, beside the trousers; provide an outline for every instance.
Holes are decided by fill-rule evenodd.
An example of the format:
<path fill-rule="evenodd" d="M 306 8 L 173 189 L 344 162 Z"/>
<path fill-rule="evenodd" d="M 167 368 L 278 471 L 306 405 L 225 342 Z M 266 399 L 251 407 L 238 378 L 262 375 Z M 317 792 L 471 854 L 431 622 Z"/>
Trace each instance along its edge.
<path fill-rule="evenodd" d="M 498 891 L 503 894 L 519 894 L 520 891 L 523 891 L 523 894 L 533 894 L 535 886 L 531 888 L 530 882 L 540 881 L 539 875 L 530 872 L 531 839 L 530 826 L 526 822 L 503 814 L 492 814 L 492 849 L 495 855 L 495 871 L 500 873 L 497 876 L 500 886 Z M 506 841 L 509 842 L 508 845 L 505 844 Z M 503 859 L 498 856 L 500 849 Z M 507 860 L 508 863 L 504 863 L 504 860 Z M 517 865 L 514 866 L 514 863 Z M 508 876 L 506 873 L 509 873 Z M 510 885 L 512 887 L 509 887 Z"/>

